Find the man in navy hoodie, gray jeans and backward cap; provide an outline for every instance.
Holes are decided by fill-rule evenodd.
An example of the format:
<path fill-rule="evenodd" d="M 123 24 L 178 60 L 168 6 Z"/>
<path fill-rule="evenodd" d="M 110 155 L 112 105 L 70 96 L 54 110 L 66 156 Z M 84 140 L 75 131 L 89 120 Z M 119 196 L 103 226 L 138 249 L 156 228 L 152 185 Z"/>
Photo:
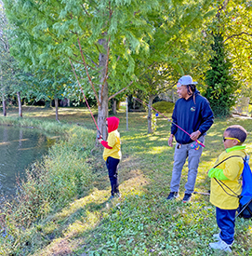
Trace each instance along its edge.
<path fill-rule="evenodd" d="M 188 177 L 185 184 L 183 202 L 190 201 L 203 151 L 202 147 L 197 150 L 194 149 L 198 147 L 196 140 L 204 144 L 206 131 L 214 122 L 214 115 L 209 102 L 200 95 L 195 84 L 197 82 L 192 82 L 190 75 L 180 77 L 177 84 L 177 92 L 180 99 L 175 103 L 172 114 L 171 135 L 168 140 L 170 147 L 173 146 L 174 137 L 177 141 L 168 200 L 179 196 L 181 171 L 188 157 Z M 175 124 L 186 130 L 191 136 L 179 129 Z"/>

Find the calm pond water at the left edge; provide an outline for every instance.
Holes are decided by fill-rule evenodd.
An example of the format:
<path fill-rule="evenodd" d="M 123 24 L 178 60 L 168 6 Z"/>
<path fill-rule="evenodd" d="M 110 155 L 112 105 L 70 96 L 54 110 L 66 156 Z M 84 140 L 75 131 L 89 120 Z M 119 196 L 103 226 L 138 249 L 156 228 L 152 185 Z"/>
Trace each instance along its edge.
<path fill-rule="evenodd" d="M 17 177 L 25 178 L 25 168 L 41 159 L 53 141 L 33 128 L 0 126 L 0 201 L 15 195 Z"/>

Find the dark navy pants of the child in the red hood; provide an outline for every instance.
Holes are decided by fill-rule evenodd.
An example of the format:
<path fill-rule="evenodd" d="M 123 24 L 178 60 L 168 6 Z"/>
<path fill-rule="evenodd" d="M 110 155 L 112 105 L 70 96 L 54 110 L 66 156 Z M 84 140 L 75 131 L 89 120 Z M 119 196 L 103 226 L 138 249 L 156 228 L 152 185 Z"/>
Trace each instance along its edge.
<path fill-rule="evenodd" d="M 109 171 L 109 178 L 111 182 L 112 187 L 112 195 L 114 193 L 119 193 L 119 182 L 118 182 L 118 164 L 120 162 L 120 159 L 113 158 L 109 156 L 106 161 L 106 166 Z"/>

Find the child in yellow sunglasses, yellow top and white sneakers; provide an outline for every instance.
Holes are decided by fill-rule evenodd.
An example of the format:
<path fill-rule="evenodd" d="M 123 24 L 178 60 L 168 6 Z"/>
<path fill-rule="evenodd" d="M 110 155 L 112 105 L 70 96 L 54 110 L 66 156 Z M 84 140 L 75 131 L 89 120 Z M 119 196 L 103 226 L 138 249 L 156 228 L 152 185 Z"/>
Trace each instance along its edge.
<path fill-rule="evenodd" d="M 212 249 L 232 251 L 235 212 L 239 207 L 236 195 L 242 192 L 241 175 L 246 155 L 243 142 L 246 135 L 245 128 L 241 126 L 227 128 L 223 134 L 225 151 L 216 161 L 217 168 L 208 171 L 211 178 L 210 202 L 216 207 L 216 220 L 220 229 L 219 234 L 213 235 L 218 242 L 209 244 Z"/>

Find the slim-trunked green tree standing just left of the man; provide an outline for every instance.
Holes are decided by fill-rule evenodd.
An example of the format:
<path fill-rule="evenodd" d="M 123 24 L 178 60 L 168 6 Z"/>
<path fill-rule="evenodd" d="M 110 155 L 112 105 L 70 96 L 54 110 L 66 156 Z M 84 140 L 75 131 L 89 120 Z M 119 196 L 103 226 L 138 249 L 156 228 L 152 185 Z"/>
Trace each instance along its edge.
<path fill-rule="evenodd" d="M 148 133 L 153 132 L 153 99 L 173 88 L 179 76 L 201 70 L 201 74 L 197 74 L 200 76 L 208 67 L 211 36 L 205 36 L 202 31 L 206 20 L 215 15 L 216 10 L 210 7 L 212 2 L 168 2 L 163 9 L 153 10 L 146 20 L 154 27 L 152 36 L 146 35 L 150 46 L 148 57 L 141 49 L 132 57 L 136 60 L 135 74 L 139 77 L 134 85 L 149 102 Z M 134 94 L 133 89 L 131 93 Z"/>

